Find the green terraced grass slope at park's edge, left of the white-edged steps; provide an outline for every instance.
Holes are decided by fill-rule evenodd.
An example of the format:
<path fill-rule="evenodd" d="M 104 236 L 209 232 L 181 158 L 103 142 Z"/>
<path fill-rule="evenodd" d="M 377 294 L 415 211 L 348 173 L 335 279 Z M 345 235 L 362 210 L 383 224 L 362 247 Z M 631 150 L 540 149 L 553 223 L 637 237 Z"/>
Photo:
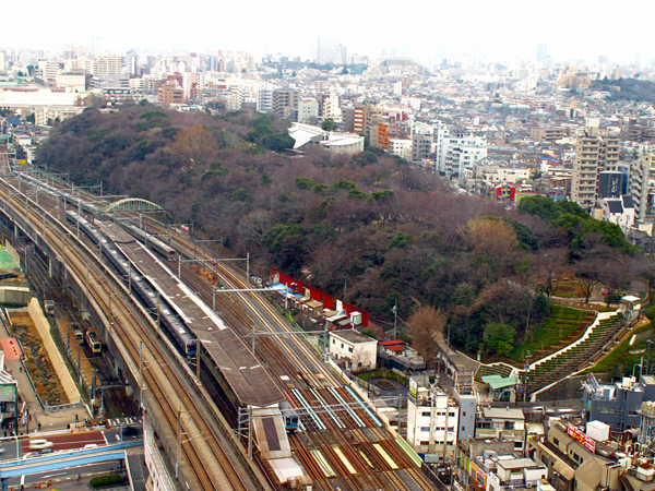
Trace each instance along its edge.
<path fill-rule="evenodd" d="M 522 344 L 515 346 L 510 354 L 510 358 L 521 362 L 526 350 L 529 350 L 533 355 L 541 350 L 548 351 L 548 348 L 571 336 L 581 327 L 588 326 L 593 322 L 593 318 L 587 319 L 587 315 L 590 315 L 588 311 L 552 304 L 550 315 L 544 324 L 537 327 L 534 339 L 525 339 Z"/>

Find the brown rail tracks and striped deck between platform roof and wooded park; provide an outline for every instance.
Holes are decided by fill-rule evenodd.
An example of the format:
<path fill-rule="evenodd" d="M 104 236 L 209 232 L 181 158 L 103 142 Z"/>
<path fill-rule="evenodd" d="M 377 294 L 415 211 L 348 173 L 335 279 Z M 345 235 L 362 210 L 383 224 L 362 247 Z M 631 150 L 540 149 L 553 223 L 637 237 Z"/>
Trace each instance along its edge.
<path fill-rule="evenodd" d="M 189 258 L 199 256 L 203 261 L 204 268 L 209 270 L 214 279 L 218 279 L 222 285 L 235 289 L 252 287 L 241 274 L 236 273 L 231 267 L 226 267 L 225 263 L 212 264 L 206 252 L 196 249 L 184 237 L 171 233 L 170 230 L 153 223 L 148 224 L 148 230 L 169 236 L 174 248 L 180 254 Z M 214 285 L 199 275 L 195 267 L 184 265 L 181 267 L 181 279 L 200 292 L 209 304 L 212 301 Z M 279 312 L 259 292 L 237 292 L 231 294 L 229 298 L 219 294 L 216 299 L 219 315 L 243 338 L 252 334 L 253 325 L 260 333 L 291 333 L 291 328 Z M 288 337 L 296 336 L 298 335 L 288 334 Z M 289 438 L 298 459 L 314 480 L 314 489 L 385 491 L 433 489 L 412 458 L 393 440 L 389 440 L 390 434 L 377 428 L 376 421 L 369 414 L 354 404 L 355 399 L 343 387 L 335 372 L 325 367 L 317 356 L 315 348 L 305 340 L 286 343 L 282 336 L 271 337 L 273 342 L 270 339 L 262 342 L 260 337 L 257 343 L 257 355 L 260 360 L 267 362 L 269 369 L 277 375 L 276 383 L 281 390 L 287 392 L 287 395 L 289 388 L 302 390 L 308 404 L 321 411 L 322 416 L 319 418 L 325 426 L 325 430 L 321 431 L 310 418 L 305 418 L 305 423 L 310 430 L 309 436 L 303 435 L 302 442 L 298 435 Z M 335 394 L 342 400 L 352 404 L 348 409 L 336 409 L 336 419 L 330 415 L 330 411 L 324 410 L 324 405 L 334 406 L 340 403 Z M 294 396 L 289 396 L 289 399 L 294 400 Z M 308 445 L 312 448 L 307 448 Z M 324 464 L 317 463 L 312 452 L 320 452 L 327 465 L 332 466 L 333 471 L 338 472 L 340 476 L 326 474 L 322 468 Z M 406 472 L 416 486 L 412 488 L 406 486 L 395 474 L 398 469 L 403 469 L 402 471 Z"/>

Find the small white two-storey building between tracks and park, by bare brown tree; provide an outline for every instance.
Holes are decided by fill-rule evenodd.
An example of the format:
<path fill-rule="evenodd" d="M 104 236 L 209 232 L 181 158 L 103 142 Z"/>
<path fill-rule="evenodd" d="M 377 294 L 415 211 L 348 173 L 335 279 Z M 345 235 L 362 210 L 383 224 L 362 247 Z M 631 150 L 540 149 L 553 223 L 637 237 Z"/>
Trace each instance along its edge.
<path fill-rule="evenodd" d="M 330 355 L 354 373 L 376 368 L 378 342 L 355 330 L 330 333 Z"/>

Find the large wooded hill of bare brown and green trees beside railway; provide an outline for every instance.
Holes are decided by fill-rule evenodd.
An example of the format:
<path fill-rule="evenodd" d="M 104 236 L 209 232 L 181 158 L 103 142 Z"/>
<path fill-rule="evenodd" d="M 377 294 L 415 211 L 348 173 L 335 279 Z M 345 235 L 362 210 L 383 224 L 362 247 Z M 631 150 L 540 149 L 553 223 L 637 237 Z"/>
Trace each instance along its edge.
<path fill-rule="evenodd" d="M 531 196 L 508 208 L 461 195 L 371 146 L 353 156 L 317 146 L 298 158 L 286 153 L 288 125 L 143 101 L 57 123 L 37 155 L 76 185 L 103 181 L 111 194 L 157 202 L 175 223 L 221 239 L 223 253 L 250 252 L 259 276 L 281 268 L 388 330 L 397 303 L 400 330 L 428 361 L 437 333 L 471 354 L 538 346 L 565 279 L 586 300 L 603 286 L 608 301 L 633 277 L 653 279 L 620 228 L 573 203 Z"/>

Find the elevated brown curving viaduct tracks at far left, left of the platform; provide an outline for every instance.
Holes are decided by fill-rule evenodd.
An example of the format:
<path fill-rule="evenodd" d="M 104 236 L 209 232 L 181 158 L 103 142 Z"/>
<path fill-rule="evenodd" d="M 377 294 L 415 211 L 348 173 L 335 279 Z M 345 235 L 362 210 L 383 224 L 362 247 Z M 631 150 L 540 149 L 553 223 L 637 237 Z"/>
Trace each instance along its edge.
<path fill-rule="evenodd" d="M 32 221 L 37 233 L 41 235 L 41 238 L 64 259 L 70 271 L 83 285 L 90 300 L 102 311 L 107 325 L 116 330 L 123 348 L 130 355 L 132 366 L 139 363 L 140 359 L 143 360 L 146 370 L 141 372 L 141 376 L 152 394 L 148 400 L 158 406 L 170 432 L 181 440 L 179 446 L 192 469 L 192 475 L 188 476 L 188 479 L 194 481 L 191 489 L 243 491 L 253 489 L 254 487 L 248 483 L 242 472 L 226 455 L 214 430 L 207 424 L 211 418 L 207 418 L 206 411 L 194 403 L 198 399 L 195 392 L 180 382 L 184 378 L 179 370 L 174 369 L 177 360 L 159 347 L 160 343 L 154 330 L 148 326 L 146 315 L 130 301 L 120 280 L 114 278 L 114 283 L 107 282 L 107 272 L 88 266 L 90 261 L 95 264 L 95 251 L 86 250 L 86 254 L 83 254 L 76 248 L 67 247 L 68 244 L 60 240 L 62 232 L 72 236 L 74 233 L 66 224 L 57 223 L 55 217 L 45 209 L 41 215 L 39 208 L 43 196 L 41 203 L 37 206 L 36 203 L 29 203 L 32 201 L 29 197 L 12 187 L 9 179 L 5 178 L 3 181 L 7 187 L 0 185 L 0 199 L 23 215 L 24 219 Z M 41 220 L 43 227 L 39 229 L 37 224 L 40 225 Z M 111 310 L 109 310 L 110 302 L 112 302 Z M 142 349 L 143 342 L 147 345 L 145 350 Z M 191 486 L 191 482 L 189 484 Z"/>

